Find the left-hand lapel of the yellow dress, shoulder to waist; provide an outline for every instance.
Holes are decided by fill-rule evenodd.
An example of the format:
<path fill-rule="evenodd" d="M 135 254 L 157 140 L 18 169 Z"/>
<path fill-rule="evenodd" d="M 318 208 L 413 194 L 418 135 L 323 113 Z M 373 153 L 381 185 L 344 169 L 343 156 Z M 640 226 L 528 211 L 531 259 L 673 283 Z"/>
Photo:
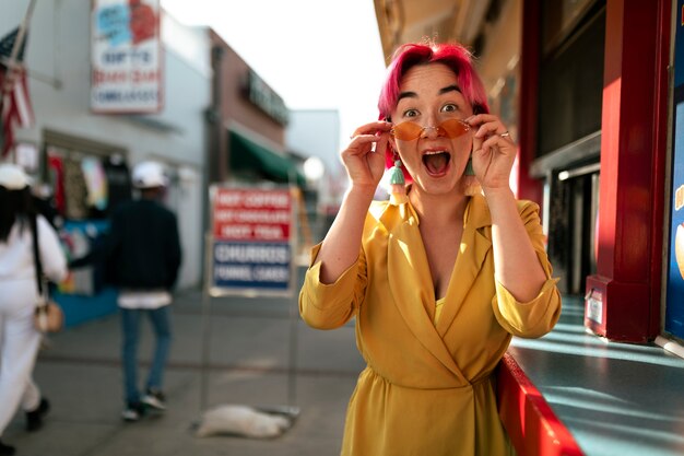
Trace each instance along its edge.
<path fill-rule="evenodd" d="M 393 217 L 400 220 L 387 220 Z M 406 203 L 389 207 L 382 218 L 389 231 L 387 273 L 399 313 L 423 347 L 459 379 L 468 383 L 425 309 L 426 305 L 434 306 L 435 293 L 417 215 Z"/>

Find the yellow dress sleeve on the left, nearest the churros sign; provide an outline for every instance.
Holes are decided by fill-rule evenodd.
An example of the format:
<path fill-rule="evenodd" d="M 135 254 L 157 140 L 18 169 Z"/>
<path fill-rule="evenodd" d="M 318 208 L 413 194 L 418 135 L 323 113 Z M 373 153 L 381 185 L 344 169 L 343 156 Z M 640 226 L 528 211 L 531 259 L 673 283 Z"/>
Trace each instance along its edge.
<path fill-rule="evenodd" d="M 366 264 L 363 249 L 356 262 L 334 283 L 320 282 L 321 262 L 316 262 L 320 244 L 311 248 L 309 269 L 299 291 L 299 315 L 307 325 L 317 329 L 334 329 L 344 325 L 355 314 L 366 289 Z"/>

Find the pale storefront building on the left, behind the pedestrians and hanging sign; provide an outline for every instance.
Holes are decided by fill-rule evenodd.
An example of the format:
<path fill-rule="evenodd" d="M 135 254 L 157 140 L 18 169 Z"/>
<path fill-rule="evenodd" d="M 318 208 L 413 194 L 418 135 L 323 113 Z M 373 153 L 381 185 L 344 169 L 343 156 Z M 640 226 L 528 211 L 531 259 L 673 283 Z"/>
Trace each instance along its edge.
<path fill-rule="evenodd" d="M 0 36 L 21 23 L 28 3 L 2 7 Z M 130 169 L 144 160 L 164 163 L 170 182 L 165 203 L 178 214 L 184 254 L 177 287 L 196 287 L 202 272 L 204 114 L 211 103 L 207 32 L 186 27 L 157 8 L 160 107 L 146 114 L 105 113 L 94 109 L 92 98 L 96 14 L 91 2 L 35 2 L 24 59 L 35 121 L 15 130 L 16 147 L 3 160 L 24 165 L 52 195 L 64 247 L 74 256 L 83 254 L 83 235 L 103 227 L 115 202 L 132 197 Z M 98 197 L 103 185 L 109 186 L 108 195 Z M 95 292 L 69 287 L 75 290 L 63 291 L 85 291 L 90 297 Z"/>

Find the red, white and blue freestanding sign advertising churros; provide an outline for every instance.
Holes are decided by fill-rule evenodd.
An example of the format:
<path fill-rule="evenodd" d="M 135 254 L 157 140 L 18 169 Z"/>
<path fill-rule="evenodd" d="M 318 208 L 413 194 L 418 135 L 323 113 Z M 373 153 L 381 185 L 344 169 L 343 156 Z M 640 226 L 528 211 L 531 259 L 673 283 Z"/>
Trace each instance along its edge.
<path fill-rule="evenodd" d="M 212 294 L 290 292 L 293 202 L 287 189 L 213 187 Z"/>

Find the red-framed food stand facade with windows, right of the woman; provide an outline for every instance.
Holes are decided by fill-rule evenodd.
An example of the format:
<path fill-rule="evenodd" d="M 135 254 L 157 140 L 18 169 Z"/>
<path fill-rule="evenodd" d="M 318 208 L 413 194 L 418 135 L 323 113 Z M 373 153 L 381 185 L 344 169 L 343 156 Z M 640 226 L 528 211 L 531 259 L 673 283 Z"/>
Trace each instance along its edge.
<path fill-rule="evenodd" d="M 542 207 L 554 274 L 564 293 L 585 296 L 587 328 L 682 342 L 681 2 L 428 3 L 376 0 L 385 52 L 424 36 L 473 49 L 493 112 L 519 144 L 514 188 Z"/>

